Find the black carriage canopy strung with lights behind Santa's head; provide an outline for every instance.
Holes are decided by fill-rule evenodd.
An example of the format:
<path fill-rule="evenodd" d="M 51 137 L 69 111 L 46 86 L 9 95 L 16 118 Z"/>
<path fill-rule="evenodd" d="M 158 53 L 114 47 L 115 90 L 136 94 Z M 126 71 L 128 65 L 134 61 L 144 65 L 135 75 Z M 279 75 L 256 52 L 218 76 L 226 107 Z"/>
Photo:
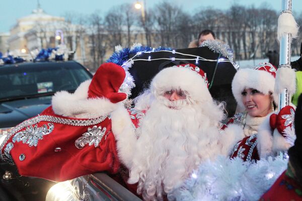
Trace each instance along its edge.
<path fill-rule="evenodd" d="M 226 111 L 228 116 L 232 117 L 235 114 L 237 103 L 232 94 L 232 80 L 236 73 L 236 68 L 231 62 L 218 62 L 221 60 L 229 60 L 219 53 L 215 53 L 208 47 L 198 48 L 186 48 L 175 50 L 177 53 L 189 54 L 205 58 L 206 60 L 217 60 L 217 61 L 203 61 L 199 60 L 198 63 L 195 59 L 192 60 L 192 56 L 175 54 L 171 51 L 158 51 L 158 52 L 147 52 L 141 53 L 135 59 L 145 59 L 134 61 L 132 67 L 129 69 L 130 74 L 135 80 L 135 87 L 131 90 L 130 98 L 136 97 L 142 90 L 148 86 L 150 80 L 163 68 L 170 67 L 173 65 L 192 63 L 201 68 L 207 76 L 210 85 L 210 93 L 212 97 L 218 102 L 226 103 Z M 135 54 L 130 54 L 129 58 L 132 58 Z M 159 59 L 157 58 L 172 58 L 175 60 Z M 148 61 L 148 58 L 152 58 Z M 181 60 L 178 60 L 181 59 Z M 191 59 L 191 60 L 190 60 Z M 143 67 L 142 67 L 143 66 Z"/>

